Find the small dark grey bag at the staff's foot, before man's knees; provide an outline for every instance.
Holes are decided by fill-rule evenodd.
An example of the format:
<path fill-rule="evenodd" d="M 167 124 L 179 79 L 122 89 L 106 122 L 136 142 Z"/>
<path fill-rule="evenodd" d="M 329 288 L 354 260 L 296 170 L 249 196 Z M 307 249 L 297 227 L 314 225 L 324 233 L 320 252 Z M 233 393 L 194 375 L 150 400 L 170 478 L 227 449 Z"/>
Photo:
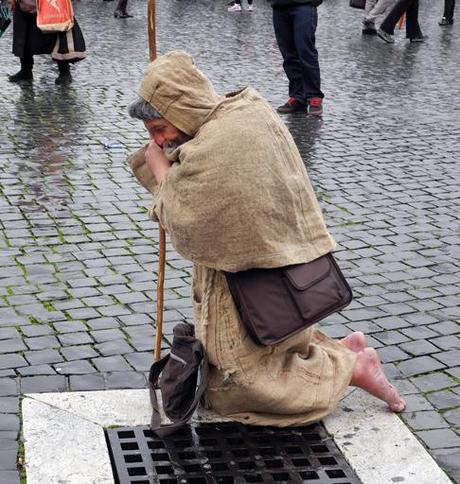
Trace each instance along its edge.
<path fill-rule="evenodd" d="M 173 329 L 171 351 L 150 368 L 149 391 L 152 404 L 150 428 L 166 437 L 187 424 L 200 403 L 209 380 L 209 364 L 191 324 L 179 323 Z M 156 390 L 171 424 L 161 425 Z"/>

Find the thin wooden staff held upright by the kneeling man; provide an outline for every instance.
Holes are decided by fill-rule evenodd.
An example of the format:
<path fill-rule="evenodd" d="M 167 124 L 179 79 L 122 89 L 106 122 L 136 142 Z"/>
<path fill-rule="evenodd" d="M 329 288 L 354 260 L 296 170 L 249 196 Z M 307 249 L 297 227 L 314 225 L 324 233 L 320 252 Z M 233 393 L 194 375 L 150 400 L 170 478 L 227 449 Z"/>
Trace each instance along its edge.
<path fill-rule="evenodd" d="M 147 22 L 149 32 L 149 56 L 150 62 L 157 57 L 157 39 L 155 24 L 155 0 L 148 0 L 147 3 Z M 158 224 L 159 231 L 159 252 L 157 269 L 157 321 L 155 334 L 155 361 L 161 357 L 161 339 L 163 336 L 163 303 L 164 303 L 164 283 L 165 283 L 165 264 L 166 264 L 166 234 L 164 228 Z"/>

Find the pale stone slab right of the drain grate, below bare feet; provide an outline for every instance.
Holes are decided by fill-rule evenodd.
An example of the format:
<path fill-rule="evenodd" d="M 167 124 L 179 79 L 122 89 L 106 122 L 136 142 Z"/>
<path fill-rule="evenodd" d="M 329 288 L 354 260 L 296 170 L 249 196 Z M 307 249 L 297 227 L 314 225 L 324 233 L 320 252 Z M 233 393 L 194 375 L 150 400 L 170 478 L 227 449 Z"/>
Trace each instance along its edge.
<path fill-rule="evenodd" d="M 363 484 L 449 484 L 404 422 L 386 405 L 353 390 L 324 425 Z"/>

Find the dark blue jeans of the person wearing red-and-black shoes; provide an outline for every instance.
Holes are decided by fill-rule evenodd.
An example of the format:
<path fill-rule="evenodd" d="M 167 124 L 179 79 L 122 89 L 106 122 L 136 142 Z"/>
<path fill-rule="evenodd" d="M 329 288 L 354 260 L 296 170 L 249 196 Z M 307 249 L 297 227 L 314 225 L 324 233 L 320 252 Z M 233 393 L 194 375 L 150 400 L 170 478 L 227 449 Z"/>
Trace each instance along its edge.
<path fill-rule="evenodd" d="M 273 27 L 289 80 L 289 97 L 304 103 L 312 97 L 324 97 L 315 47 L 317 23 L 318 13 L 312 5 L 273 8 Z"/>

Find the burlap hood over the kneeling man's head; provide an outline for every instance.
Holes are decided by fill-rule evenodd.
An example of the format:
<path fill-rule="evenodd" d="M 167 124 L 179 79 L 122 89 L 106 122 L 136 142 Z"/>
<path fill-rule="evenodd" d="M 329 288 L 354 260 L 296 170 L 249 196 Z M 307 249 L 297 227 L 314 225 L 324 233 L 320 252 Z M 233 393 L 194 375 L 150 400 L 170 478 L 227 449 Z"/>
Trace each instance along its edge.
<path fill-rule="evenodd" d="M 139 87 L 139 96 L 189 136 L 195 135 L 223 99 L 196 68 L 193 58 L 181 50 L 150 63 Z"/>

